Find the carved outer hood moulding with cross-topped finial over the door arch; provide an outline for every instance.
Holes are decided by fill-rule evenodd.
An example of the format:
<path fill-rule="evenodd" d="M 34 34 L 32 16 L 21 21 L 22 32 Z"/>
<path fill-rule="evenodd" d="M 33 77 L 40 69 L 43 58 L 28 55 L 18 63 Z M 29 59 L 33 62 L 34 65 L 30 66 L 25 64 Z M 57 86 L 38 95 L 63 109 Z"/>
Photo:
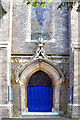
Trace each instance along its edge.
<path fill-rule="evenodd" d="M 39 60 L 39 62 L 42 62 L 43 59 L 47 60 L 48 62 L 51 62 L 51 60 L 49 60 L 47 55 L 45 54 L 45 50 L 44 50 L 43 46 L 44 46 L 43 38 L 39 38 L 38 48 L 36 50 L 35 56 L 33 56 L 32 59 L 30 59 L 29 62 L 22 63 L 18 67 L 18 69 L 16 71 L 16 82 L 20 83 L 20 76 L 21 76 L 22 72 L 24 71 L 24 69 L 27 67 L 27 65 L 30 62 L 35 61 L 35 60 Z M 55 62 L 54 62 L 54 64 L 58 68 L 58 66 L 57 66 L 57 64 Z M 59 71 L 60 71 L 60 74 L 61 74 L 60 84 L 62 84 L 64 82 L 64 75 L 63 75 L 63 73 L 62 73 L 62 71 L 60 69 L 59 69 Z"/>

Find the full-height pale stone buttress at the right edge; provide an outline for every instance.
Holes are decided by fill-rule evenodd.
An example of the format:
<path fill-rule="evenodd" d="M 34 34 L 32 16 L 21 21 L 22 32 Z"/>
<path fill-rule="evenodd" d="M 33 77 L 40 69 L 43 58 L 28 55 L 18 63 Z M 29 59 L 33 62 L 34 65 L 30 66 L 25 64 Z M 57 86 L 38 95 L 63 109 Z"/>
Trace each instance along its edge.
<path fill-rule="evenodd" d="M 73 102 L 69 103 L 69 114 L 72 117 L 80 116 L 80 40 L 79 40 L 79 13 L 76 11 L 76 3 L 71 11 L 71 28 L 70 28 L 70 86 L 73 86 Z M 73 54 L 73 56 L 72 56 Z"/>

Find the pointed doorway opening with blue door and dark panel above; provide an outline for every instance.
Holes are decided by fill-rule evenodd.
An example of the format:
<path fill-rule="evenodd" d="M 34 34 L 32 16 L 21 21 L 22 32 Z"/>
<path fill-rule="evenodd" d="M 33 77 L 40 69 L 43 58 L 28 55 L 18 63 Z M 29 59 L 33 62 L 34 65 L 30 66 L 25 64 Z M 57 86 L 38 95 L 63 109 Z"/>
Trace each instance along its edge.
<path fill-rule="evenodd" d="M 31 75 L 27 86 L 27 107 L 29 112 L 51 112 L 53 107 L 52 80 L 39 70 Z"/>

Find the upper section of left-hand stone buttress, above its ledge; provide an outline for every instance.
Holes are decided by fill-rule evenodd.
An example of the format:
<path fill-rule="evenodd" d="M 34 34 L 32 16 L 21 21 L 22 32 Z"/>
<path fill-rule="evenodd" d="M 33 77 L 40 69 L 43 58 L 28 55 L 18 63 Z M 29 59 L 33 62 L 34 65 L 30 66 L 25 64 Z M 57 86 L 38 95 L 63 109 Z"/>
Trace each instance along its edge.
<path fill-rule="evenodd" d="M 1 0 L 3 8 L 7 14 L 0 20 L 0 42 L 9 41 L 10 35 L 10 1 Z"/>

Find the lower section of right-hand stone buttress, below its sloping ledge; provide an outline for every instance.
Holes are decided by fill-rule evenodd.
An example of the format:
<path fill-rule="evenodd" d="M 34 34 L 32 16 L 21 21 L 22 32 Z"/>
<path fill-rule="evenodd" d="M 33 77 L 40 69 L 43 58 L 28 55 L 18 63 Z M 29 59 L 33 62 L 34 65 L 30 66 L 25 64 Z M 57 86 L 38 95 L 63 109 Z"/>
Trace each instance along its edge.
<path fill-rule="evenodd" d="M 80 46 L 74 49 L 74 85 L 72 117 L 80 117 Z"/>

